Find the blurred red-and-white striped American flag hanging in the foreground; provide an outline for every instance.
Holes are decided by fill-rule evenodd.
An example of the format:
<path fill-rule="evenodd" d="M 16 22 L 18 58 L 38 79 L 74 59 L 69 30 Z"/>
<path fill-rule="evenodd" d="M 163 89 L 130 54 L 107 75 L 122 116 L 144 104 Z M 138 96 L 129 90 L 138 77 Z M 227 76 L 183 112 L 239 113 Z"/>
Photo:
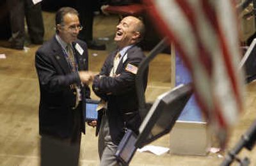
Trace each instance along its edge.
<path fill-rule="evenodd" d="M 156 26 L 175 44 L 193 77 L 205 120 L 225 146 L 243 109 L 243 72 L 232 0 L 144 0 Z"/>

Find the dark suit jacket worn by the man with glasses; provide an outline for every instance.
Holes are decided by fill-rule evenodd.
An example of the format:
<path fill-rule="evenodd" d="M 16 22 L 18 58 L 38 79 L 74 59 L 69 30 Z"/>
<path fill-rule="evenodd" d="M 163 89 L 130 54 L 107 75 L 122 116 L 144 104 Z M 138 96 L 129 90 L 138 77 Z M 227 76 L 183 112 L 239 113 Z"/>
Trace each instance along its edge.
<path fill-rule="evenodd" d="M 88 70 L 86 43 L 77 40 L 72 45 L 74 46 L 76 43 L 84 50 L 83 54 L 80 55 L 74 49 L 78 70 Z M 76 90 L 70 85 L 79 85 L 81 80 L 78 73 L 71 72 L 61 45 L 55 36 L 37 50 L 35 66 L 40 86 L 39 132 L 40 134 L 69 138 L 72 136 L 72 128 L 75 121 L 72 107 L 76 105 Z M 81 91 L 83 109 L 85 109 L 84 98 L 90 97 L 90 89 L 84 85 L 81 87 Z M 84 111 L 79 111 L 81 111 L 82 116 L 81 131 L 85 132 L 83 123 Z"/>

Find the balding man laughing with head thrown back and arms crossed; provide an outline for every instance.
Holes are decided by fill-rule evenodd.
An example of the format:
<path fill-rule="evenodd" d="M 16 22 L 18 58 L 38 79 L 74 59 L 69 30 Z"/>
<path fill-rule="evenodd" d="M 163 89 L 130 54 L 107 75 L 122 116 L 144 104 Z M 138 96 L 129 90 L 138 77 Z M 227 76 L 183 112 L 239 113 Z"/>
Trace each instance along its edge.
<path fill-rule="evenodd" d="M 145 58 L 137 43 L 144 34 L 144 25 L 136 17 L 125 17 L 116 26 L 115 41 L 118 49 L 111 53 L 99 75 L 93 80 L 93 91 L 108 105 L 99 111 L 97 124 L 99 130 L 100 165 L 117 165 L 115 152 L 127 128 L 138 134 L 141 124 L 138 112 L 135 77 L 138 66 Z M 117 62 L 116 62 L 117 61 Z M 147 73 L 144 79 L 147 86 Z"/>

